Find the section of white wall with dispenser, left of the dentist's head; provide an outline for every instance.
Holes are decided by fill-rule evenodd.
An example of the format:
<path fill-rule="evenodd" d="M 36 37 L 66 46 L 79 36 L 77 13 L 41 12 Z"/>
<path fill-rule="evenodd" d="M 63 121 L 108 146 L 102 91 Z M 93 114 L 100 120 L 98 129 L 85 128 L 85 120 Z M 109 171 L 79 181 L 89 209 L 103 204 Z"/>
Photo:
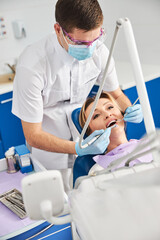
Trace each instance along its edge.
<path fill-rule="evenodd" d="M 13 64 L 30 43 L 53 31 L 56 0 L 0 0 L 0 17 L 4 17 L 8 36 L 0 40 L 0 74 L 9 72 L 5 63 Z M 14 37 L 12 22 L 22 20 L 26 38 Z"/>

